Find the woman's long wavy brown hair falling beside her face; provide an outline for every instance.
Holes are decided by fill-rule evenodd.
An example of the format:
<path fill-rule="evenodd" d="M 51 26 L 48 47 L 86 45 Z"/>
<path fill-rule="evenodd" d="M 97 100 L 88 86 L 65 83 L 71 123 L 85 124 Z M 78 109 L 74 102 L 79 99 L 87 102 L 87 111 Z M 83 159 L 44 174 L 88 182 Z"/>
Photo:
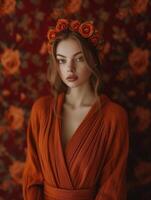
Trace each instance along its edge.
<path fill-rule="evenodd" d="M 86 38 L 80 36 L 79 33 L 70 30 L 64 30 L 57 34 L 55 41 L 52 44 L 52 50 L 50 54 L 49 67 L 47 70 L 47 79 L 51 86 L 51 92 L 54 97 L 54 112 L 56 113 L 56 100 L 60 93 L 67 92 L 68 86 L 64 84 L 58 73 L 58 62 L 56 60 L 56 50 L 59 42 L 66 39 L 75 39 L 81 45 L 85 59 L 92 72 L 90 76 L 90 86 L 95 93 L 96 98 L 100 104 L 100 94 L 102 92 L 102 66 L 101 59 L 98 55 L 98 50 L 95 46 Z"/>

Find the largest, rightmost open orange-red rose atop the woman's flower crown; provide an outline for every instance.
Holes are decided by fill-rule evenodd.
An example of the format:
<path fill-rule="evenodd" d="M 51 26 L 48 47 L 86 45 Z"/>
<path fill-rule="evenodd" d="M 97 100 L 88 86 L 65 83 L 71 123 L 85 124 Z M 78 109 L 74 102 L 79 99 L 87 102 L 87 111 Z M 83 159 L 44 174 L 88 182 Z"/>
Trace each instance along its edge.
<path fill-rule="evenodd" d="M 79 33 L 84 38 L 89 38 L 90 36 L 92 36 L 93 32 L 94 32 L 94 27 L 91 22 L 84 22 L 79 27 Z"/>

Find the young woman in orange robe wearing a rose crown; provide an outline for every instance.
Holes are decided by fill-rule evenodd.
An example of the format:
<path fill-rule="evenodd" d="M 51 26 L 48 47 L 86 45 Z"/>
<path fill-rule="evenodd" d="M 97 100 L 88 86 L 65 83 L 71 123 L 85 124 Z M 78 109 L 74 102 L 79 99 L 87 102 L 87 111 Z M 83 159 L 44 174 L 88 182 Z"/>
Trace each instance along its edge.
<path fill-rule="evenodd" d="M 48 31 L 52 96 L 32 107 L 25 200 L 125 200 L 128 117 L 101 91 L 101 38 L 92 22 Z"/>

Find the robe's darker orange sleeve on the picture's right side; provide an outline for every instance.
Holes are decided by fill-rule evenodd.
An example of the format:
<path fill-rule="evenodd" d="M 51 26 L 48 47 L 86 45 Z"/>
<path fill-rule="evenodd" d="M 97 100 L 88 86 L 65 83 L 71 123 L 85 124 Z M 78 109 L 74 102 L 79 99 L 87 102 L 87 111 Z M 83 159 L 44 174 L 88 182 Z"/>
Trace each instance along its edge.
<path fill-rule="evenodd" d="M 99 189 L 95 200 L 126 200 L 128 115 L 122 106 L 114 103 L 107 113 L 105 160 L 99 176 Z"/>

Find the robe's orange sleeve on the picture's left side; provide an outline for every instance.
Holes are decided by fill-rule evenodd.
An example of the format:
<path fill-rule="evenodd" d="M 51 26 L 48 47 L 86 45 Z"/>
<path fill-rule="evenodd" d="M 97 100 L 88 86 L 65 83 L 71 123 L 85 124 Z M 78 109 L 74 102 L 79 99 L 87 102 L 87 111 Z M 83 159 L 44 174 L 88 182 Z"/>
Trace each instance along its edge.
<path fill-rule="evenodd" d="M 39 133 L 39 100 L 31 110 L 27 127 L 27 155 L 23 172 L 23 197 L 24 200 L 43 199 L 43 175 L 38 157 L 38 133 Z"/>

